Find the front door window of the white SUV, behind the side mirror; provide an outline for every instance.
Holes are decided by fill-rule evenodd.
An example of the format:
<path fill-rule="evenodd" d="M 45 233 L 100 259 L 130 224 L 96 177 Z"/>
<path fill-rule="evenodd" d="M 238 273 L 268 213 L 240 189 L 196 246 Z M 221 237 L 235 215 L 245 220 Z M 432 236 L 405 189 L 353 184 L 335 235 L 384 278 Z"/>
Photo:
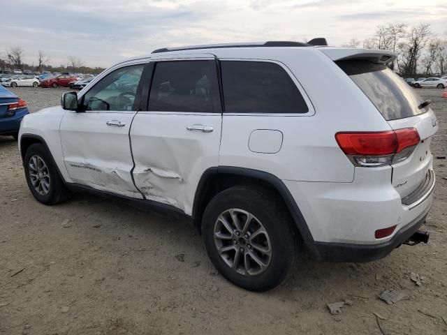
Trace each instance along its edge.
<path fill-rule="evenodd" d="M 144 64 L 126 66 L 103 77 L 85 94 L 85 110 L 134 110 L 143 68 Z"/>

